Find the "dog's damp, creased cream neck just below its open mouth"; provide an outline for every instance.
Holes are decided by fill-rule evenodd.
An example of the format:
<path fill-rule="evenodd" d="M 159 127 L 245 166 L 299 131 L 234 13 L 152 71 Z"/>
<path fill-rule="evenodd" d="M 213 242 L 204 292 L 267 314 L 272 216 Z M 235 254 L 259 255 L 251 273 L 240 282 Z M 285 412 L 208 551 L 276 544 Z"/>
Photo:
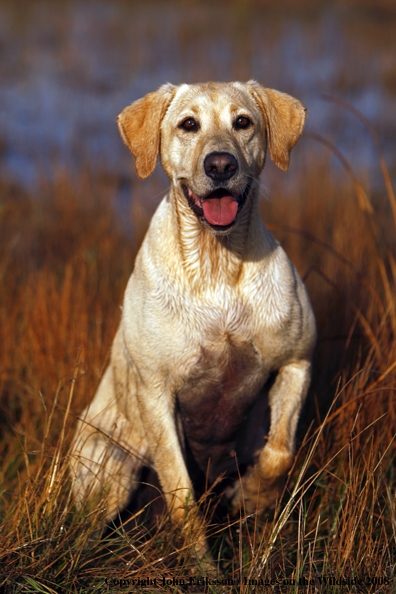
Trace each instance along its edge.
<path fill-rule="evenodd" d="M 207 290 L 219 283 L 231 286 L 238 283 L 251 249 L 252 228 L 260 224 L 256 192 L 252 188 L 235 229 L 228 235 L 215 235 L 202 227 L 183 192 L 171 190 L 183 273 L 195 290 Z"/>

